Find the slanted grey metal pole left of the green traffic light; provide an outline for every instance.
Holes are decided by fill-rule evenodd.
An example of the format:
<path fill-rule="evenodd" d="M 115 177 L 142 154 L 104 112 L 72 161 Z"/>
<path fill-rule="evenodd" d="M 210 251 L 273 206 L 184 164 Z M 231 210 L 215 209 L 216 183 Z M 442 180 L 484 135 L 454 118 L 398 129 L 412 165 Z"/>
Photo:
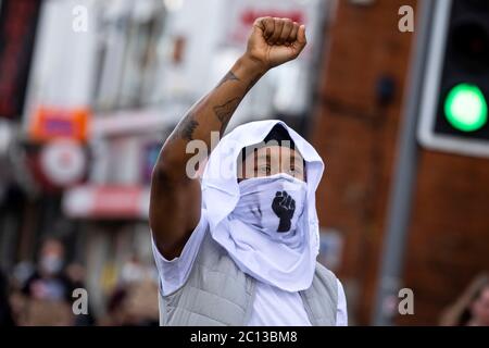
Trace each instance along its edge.
<path fill-rule="evenodd" d="M 398 294 L 401 288 L 405 240 L 417 170 L 418 107 L 422 100 L 422 85 L 435 3 L 436 1 L 432 0 L 418 1 L 417 15 L 419 20 L 415 28 L 416 39 L 410 71 L 411 78 L 399 138 L 393 185 L 390 190 L 387 231 L 373 316 L 374 325 L 391 325 L 398 310 L 397 304 L 394 308 L 390 306 L 399 301 Z"/>

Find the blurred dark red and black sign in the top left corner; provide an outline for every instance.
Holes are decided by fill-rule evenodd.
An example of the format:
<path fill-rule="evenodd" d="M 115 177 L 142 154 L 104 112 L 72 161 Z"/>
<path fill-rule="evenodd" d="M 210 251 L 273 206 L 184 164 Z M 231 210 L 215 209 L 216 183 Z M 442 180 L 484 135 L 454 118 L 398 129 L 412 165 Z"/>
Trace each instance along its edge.
<path fill-rule="evenodd" d="M 0 1 L 0 117 L 24 109 L 41 0 Z"/>

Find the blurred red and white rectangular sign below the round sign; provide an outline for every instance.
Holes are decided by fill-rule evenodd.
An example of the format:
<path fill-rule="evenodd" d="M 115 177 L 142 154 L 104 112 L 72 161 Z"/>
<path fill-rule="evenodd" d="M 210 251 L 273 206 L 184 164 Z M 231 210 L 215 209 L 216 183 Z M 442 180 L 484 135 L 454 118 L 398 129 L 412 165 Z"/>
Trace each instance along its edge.
<path fill-rule="evenodd" d="M 64 213 L 75 219 L 147 219 L 149 187 L 78 186 L 65 191 Z"/>

